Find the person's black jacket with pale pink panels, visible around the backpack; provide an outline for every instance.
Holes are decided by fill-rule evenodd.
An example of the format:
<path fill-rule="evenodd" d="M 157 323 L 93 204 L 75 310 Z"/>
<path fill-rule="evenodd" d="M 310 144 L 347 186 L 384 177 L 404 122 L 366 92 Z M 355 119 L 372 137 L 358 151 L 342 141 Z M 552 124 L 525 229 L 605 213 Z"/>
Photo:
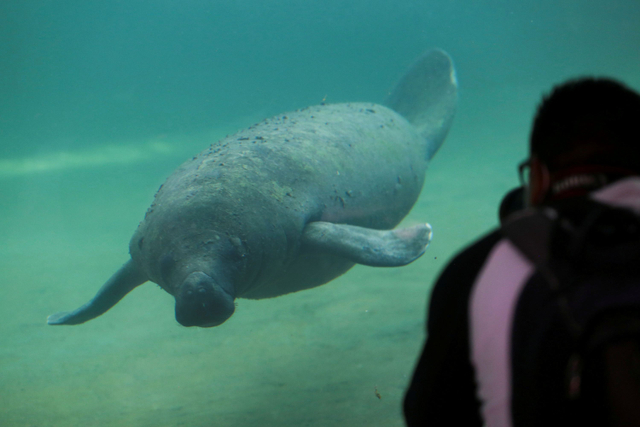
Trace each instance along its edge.
<path fill-rule="evenodd" d="M 640 213 L 640 178 L 615 182 L 591 197 Z M 527 318 L 540 321 L 536 307 L 549 298 L 540 283 L 535 265 L 500 230 L 454 257 L 432 291 L 427 341 L 404 401 L 409 427 L 550 425 L 531 424 L 524 407 L 537 408 L 534 418 L 555 425 L 577 421 L 560 422 L 566 413 L 545 405 L 547 396 L 530 394 L 535 381 L 557 388 L 553 382 L 562 381 L 564 366 L 556 362 L 566 363 L 567 356 L 561 336 L 530 339 L 535 331 Z M 527 378 L 522 369 L 538 363 L 527 360 L 531 342 L 547 359 L 542 372 L 548 377 Z M 529 405 L 531 399 L 540 399 L 539 405 Z"/>

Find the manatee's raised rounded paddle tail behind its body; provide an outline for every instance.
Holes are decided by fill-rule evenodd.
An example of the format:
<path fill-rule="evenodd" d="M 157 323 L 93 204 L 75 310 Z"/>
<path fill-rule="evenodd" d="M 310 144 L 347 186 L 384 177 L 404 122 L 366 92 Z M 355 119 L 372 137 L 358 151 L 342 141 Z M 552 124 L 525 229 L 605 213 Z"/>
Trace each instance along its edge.
<path fill-rule="evenodd" d="M 430 159 L 447 136 L 457 101 L 453 61 L 446 52 L 434 49 L 422 55 L 402 76 L 386 105 L 418 128 L 429 144 Z"/>

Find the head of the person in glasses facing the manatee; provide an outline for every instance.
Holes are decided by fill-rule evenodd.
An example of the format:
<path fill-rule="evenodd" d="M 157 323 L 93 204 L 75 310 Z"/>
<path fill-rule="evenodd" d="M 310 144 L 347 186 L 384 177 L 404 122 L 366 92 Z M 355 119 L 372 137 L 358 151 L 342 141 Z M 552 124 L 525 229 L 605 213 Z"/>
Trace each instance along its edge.
<path fill-rule="evenodd" d="M 640 175 L 640 95 L 609 79 L 557 86 L 538 108 L 529 166 L 531 205 Z"/>

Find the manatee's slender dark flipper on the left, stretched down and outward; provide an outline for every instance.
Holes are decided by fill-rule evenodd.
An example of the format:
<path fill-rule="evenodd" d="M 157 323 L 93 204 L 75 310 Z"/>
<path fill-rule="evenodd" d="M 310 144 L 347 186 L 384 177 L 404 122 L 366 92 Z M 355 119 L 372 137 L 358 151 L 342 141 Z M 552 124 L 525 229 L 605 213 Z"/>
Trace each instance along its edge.
<path fill-rule="evenodd" d="M 127 261 L 107 282 L 102 285 L 91 301 L 74 311 L 52 314 L 49 325 L 77 325 L 100 316 L 116 305 L 133 288 L 148 278 L 136 267 L 133 260 Z"/>

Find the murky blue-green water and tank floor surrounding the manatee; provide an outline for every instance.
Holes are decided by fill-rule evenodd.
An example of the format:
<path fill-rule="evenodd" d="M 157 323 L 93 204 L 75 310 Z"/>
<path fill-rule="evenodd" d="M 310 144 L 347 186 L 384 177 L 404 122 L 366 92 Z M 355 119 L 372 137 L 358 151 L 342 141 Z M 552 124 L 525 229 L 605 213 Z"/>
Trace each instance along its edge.
<path fill-rule="evenodd" d="M 401 426 L 429 289 L 497 224 L 541 95 L 640 89 L 638 22 L 635 0 L 0 2 L 0 426 Z M 406 219 L 433 225 L 421 259 L 239 300 L 213 329 L 154 284 L 45 325 L 128 259 L 183 160 L 287 110 L 382 102 L 436 46 L 460 97 Z"/>

